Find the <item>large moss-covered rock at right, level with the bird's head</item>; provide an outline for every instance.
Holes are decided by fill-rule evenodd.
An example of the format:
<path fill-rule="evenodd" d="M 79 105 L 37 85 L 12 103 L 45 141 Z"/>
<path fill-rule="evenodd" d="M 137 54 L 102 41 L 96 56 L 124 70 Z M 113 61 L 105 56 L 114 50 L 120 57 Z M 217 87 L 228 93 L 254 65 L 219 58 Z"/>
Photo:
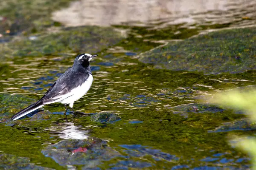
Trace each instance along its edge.
<path fill-rule="evenodd" d="M 256 28 L 215 31 L 169 42 L 141 55 L 140 61 L 170 70 L 242 72 L 256 69 Z"/>

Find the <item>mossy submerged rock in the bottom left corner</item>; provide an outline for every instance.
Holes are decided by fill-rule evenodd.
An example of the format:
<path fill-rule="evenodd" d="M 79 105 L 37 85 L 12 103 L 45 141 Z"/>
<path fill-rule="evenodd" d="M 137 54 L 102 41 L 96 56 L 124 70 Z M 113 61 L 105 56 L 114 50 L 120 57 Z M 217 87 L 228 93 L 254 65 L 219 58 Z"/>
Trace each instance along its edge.
<path fill-rule="evenodd" d="M 29 158 L 17 157 L 6 153 L 0 153 L 0 169 L 2 170 L 54 170 L 30 163 Z"/>

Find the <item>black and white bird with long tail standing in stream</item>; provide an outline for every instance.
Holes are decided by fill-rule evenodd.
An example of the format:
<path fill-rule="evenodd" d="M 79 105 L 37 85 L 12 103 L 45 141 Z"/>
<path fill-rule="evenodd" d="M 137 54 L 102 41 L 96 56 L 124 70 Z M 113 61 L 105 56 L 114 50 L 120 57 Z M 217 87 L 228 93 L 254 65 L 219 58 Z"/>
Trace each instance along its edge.
<path fill-rule="evenodd" d="M 67 111 L 67 104 L 73 111 L 73 104 L 89 91 L 93 83 L 93 75 L 90 69 L 90 60 L 98 55 L 80 54 L 74 60 L 72 68 L 68 69 L 57 79 L 48 89 L 46 94 L 38 102 L 24 108 L 12 116 L 12 120 L 35 111 L 44 105 L 52 103 L 62 103 Z M 74 112 L 74 111 L 73 111 Z"/>

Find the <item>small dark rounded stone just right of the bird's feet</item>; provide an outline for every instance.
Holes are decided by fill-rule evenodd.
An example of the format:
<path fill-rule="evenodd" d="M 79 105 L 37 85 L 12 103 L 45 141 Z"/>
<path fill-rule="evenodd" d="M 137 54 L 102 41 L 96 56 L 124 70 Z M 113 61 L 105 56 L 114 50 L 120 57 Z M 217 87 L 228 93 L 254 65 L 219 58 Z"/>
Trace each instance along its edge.
<path fill-rule="evenodd" d="M 118 120 L 121 120 L 121 118 L 117 116 L 115 113 L 110 112 L 99 112 L 91 116 L 91 121 L 99 123 L 113 123 Z"/>

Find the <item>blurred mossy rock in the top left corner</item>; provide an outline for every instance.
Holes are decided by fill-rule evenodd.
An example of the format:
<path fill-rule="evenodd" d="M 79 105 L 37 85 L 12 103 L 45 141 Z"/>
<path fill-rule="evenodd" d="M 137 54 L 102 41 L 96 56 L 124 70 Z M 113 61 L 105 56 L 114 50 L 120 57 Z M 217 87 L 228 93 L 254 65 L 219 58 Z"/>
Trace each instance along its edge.
<path fill-rule="evenodd" d="M 0 1 L 0 34 L 17 35 L 42 31 L 45 27 L 59 26 L 50 19 L 52 11 L 68 6 L 72 0 L 12 0 Z M 9 31 L 6 31 L 9 30 Z"/>

